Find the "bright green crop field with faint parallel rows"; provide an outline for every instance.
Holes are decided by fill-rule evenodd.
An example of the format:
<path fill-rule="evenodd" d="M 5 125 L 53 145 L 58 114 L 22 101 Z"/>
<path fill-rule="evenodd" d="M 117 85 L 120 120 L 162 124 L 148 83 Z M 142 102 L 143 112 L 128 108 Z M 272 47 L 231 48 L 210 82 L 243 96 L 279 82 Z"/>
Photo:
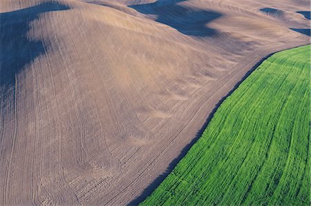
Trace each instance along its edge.
<path fill-rule="evenodd" d="M 265 60 L 141 205 L 310 205 L 310 45 Z"/>

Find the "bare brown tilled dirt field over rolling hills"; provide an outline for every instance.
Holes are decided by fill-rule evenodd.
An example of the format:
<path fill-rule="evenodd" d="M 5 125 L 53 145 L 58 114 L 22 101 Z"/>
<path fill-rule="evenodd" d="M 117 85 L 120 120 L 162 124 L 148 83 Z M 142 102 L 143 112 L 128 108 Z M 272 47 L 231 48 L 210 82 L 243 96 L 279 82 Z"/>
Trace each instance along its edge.
<path fill-rule="evenodd" d="M 0 205 L 133 203 L 256 62 L 310 43 L 309 10 L 1 0 Z"/>

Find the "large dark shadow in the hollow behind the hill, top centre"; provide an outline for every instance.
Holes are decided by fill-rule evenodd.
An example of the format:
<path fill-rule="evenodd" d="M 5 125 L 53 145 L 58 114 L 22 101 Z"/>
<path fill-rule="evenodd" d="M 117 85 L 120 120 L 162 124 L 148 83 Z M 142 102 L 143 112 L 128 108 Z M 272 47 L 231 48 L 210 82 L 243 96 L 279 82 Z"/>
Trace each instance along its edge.
<path fill-rule="evenodd" d="M 198 10 L 176 3 L 185 1 L 156 1 L 129 6 L 142 14 L 155 14 L 156 21 L 175 28 L 182 34 L 196 37 L 212 37 L 217 34 L 217 30 L 208 28 L 207 23 L 218 19 L 222 15 L 211 10 Z"/>

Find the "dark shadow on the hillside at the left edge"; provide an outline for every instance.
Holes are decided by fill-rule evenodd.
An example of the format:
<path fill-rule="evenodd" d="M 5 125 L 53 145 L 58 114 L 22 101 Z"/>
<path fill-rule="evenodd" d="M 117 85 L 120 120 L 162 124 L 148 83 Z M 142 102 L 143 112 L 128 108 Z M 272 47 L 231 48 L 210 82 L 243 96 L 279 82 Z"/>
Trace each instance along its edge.
<path fill-rule="evenodd" d="M 15 74 L 44 52 L 41 41 L 27 37 L 30 22 L 44 12 L 66 10 L 59 3 L 42 3 L 12 12 L 0 13 L 0 86 L 15 85 Z"/>

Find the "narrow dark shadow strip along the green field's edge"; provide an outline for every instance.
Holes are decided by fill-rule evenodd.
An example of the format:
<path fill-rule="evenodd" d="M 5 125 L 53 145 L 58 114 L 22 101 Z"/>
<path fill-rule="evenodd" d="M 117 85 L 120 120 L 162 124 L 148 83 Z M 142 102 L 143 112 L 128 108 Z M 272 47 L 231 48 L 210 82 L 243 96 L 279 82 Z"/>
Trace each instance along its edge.
<path fill-rule="evenodd" d="M 278 51 L 281 52 L 281 51 Z M 163 172 L 162 174 L 160 174 L 160 176 L 158 176 L 158 178 L 156 178 L 146 189 L 144 189 L 144 191 L 142 192 L 142 194 L 140 194 L 140 196 L 138 196 L 137 198 L 135 198 L 134 200 L 131 201 L 131 203 L 129 203 L 129 205 L 138 205 L 139 203 L 142 203 L 142 201 L 144 201 L 148 196 L 151 195 L 151 193 L 164 181 L 164 179 L 169 176 L 169 174 L 173 171 L 174 167 L 176 167 L 176 165 L 179 163 L 179 161 L 185 157 L 185 155 L 187 154 L 187 152 L 190 150 L 190 148 L 198 141 L 198 139 L 202 136 L 203 132 L 205 131 L 207 125 L 209 124 L 209 122 L 211 121 L 211 119 L 214 117 L 214 114 L 216 113 L 216 111 L 218 110 L 218 107 L 223 103 L 223 101 L 225 101 L 225 99 L 227 99 L 228 96 L 230 96 L 234 90 L 236 90 L 238 88 L 239 85 L 241 85 L 241 83 L 250 75 L 252 74 L 252 72 L 254 72 L 254 70 L 256 70 L 256 68 L 258 68 L 259 65 L 261 65 L 261 63 L 263 63 L 263 61 L 265 61 L 266 59 L 268 59 L 270 56 L 272 56 L 273 54 L 275 54 L 276 52 L 272 53 L 272 54 L 268 54 L 267 56 L 263 57 L 263 59 L 261 59 L 260 61 L 258 61 L 256 63 L 256 65 L 254 65 L 244 76 L 243 78 L 238 81 L 238 83 L 236 83 L 236 85 L 234 85 L 234 87 L 232 88 L 232 90 L 230 90 L 228 92 L 227 95 L 223 96 L 222 99 L 220 99 L 220 101 L 218 101 L 218 103 L 215 105 L 214 109 L 211 111 L 211 113 L 209 114 L 209 116 L 207 117 L 207 120 L 205 121 L 205 123 L 202 125 L 201 129 L 198 130 L 198 132 L 196 133 L 196 136 L 194 137 L 194 139 L 192 139 L 192 141 L 187 144 L 182 151 L 180 152 L 180 154 L 173 159 L 173 161 L 171 161 L 171 163 L 169 164 L 169 166 L 167 167 L 167 169 L 165 170 L 165 172 Z"/>

